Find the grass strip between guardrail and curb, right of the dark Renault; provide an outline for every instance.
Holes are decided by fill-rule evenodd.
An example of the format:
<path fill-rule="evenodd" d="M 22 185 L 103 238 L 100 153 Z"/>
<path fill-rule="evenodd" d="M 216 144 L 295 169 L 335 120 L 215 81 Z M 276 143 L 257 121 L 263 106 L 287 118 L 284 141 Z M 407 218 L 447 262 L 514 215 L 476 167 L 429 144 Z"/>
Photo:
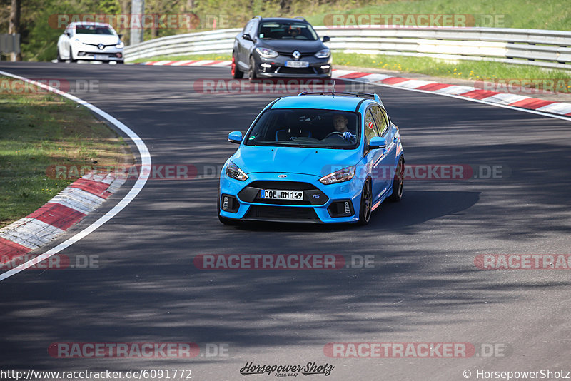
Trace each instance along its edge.
<path fill-rule="evenodd" d="M 535 66 L 503 64 L 492 61 L 450 62 L 430 57 L 384 56 L 368 54 L 334 53 L 335 65 L 396 70 L 405 73 L 422 73 L 464 79 L 568 79 L 570 71 L 547 70 Z M 571 92 L 571 89 L 568 91 Z"/>

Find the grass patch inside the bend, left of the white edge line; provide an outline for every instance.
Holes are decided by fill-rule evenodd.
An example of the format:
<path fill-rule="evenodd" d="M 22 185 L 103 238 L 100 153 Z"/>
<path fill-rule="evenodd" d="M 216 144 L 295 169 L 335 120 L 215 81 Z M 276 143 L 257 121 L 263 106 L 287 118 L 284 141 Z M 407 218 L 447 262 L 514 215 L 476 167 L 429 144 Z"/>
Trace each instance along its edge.
<path fill-rule="evenodd" d="M 76 103 L 46 92 L 0 93 L 0 228 L 74 181 L 49 178 L 48 166 L 111 165 L 131 157 L 121 137 Z"/>

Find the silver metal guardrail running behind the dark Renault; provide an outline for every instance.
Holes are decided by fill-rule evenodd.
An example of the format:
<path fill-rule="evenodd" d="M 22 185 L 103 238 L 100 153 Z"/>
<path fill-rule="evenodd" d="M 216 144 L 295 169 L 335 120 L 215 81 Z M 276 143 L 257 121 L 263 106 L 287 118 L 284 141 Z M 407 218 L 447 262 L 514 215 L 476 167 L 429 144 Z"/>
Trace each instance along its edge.
<path fill-rule="evenodd" d="M 242 29 L 179 34 L 126 46 L 126 61 L 161 55 L 229 54 Z M 571 70 L 571 32 L 500 28 L 403 28 L 388 26 L 328 28 L 332 51 L 448 60 L 500 61 Z"/>

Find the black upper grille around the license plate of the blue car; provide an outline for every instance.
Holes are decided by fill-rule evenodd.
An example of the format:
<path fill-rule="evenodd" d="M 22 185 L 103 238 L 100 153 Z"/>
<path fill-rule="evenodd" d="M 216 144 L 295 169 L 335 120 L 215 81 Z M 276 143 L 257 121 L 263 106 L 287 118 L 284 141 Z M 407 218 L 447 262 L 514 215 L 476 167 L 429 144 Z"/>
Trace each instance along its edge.
<path fill-rule="evenodd" d="M 303 191 L 303 200 L 271 200 L 260 197 L 262 189 L 278 189 L 284 191 Z M 324 205 L 329 198 L 325 193 L 310 183 L 299 181 L 253 181 L 244 187 L 238 198 L 246 203 L 263 203 L 270 205 Z"/>

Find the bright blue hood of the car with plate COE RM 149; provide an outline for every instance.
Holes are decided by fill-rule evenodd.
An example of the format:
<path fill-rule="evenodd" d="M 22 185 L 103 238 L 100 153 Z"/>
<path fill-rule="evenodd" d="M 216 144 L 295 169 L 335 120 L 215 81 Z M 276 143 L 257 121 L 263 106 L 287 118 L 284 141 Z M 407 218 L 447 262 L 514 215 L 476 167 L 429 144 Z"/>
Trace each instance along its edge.
<path fill-rule="evenodd" d="M 246 173 L 303 173 L 322 177 L 358 163 L 358 150 L 241 146 L 232 157 Z"/>

